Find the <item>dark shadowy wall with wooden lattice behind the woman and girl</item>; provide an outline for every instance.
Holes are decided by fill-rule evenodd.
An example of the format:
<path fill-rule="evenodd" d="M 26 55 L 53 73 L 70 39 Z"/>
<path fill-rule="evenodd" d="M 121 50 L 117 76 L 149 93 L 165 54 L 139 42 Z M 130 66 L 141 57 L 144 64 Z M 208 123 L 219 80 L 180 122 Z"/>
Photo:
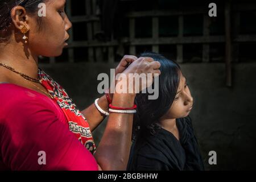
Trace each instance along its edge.
<path fill-rule="evenodd" d="M 217 17 L 208 16 L 210 2 Z M 99 73 L 125 54 L 159 52 L 187 77 L 206 169 L 256 169 L 256 2 L 210 2 L 68 0 L 69 46 L 60 57 L 42 57 L 40 67 L 82 110 L 100 96 Z M 105 124 L 94 131 L 97 144 Z M 209 165 L 209 151 L 217 165 Z"/>

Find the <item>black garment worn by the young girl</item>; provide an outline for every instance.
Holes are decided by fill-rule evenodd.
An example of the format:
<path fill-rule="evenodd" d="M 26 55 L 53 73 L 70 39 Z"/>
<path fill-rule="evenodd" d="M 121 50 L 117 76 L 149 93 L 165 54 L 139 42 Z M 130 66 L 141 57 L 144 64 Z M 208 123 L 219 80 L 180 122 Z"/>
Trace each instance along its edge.
<path fill-rule="evenodd" d="M 127 170 L 204 170 L 190 117 L 176 119 L 180 140 L 160 129 L 155 135 L 133 142 Z"/>

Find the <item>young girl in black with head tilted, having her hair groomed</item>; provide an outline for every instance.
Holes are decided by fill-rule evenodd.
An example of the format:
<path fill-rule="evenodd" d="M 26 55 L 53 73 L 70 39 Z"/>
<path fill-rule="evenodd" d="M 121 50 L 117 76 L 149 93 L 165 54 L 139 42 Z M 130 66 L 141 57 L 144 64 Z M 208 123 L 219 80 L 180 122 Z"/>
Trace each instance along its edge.
<path fill-rule="evenodd" d="M 174 61 L 143 53 L 161 63 L 159 97 L 137 94 L 133 145 L 128 170 L 204 170 L 189 113 L 193 97 L 187 80 Z M 154 85 L 156 86 L 156 85 Z"/>

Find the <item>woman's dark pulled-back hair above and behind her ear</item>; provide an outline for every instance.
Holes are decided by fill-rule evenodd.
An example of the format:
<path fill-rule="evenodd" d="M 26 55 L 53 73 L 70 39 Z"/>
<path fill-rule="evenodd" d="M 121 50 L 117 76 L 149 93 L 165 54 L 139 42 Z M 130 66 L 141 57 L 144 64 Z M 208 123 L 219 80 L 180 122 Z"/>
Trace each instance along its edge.
<path fill-rule="evenodd" d="M 35 14 L 38 12 L 39 3 L 46 0 L 0 0 L 0 42 L 9 40 L 11 31 L 11 10 L 15 6 L 23 6 L 27 13 Z M 38 27 L 40 29 L 40 18 L 38 17 Z"/>

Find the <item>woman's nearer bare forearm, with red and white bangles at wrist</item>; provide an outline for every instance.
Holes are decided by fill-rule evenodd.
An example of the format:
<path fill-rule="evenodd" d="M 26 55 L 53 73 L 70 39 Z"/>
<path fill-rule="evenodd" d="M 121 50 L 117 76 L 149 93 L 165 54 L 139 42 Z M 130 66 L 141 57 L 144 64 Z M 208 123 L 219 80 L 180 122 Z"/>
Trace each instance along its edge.
<path fill-rule="evenodd" d="M 113 105 L 132 107 L 135 96 L 131 94 L 114 94 Z M 133 114 L 109 115 L 108 123 L 101 142 L 94 155 L 103 170 L 126 170 L 130 154 Z"/>

